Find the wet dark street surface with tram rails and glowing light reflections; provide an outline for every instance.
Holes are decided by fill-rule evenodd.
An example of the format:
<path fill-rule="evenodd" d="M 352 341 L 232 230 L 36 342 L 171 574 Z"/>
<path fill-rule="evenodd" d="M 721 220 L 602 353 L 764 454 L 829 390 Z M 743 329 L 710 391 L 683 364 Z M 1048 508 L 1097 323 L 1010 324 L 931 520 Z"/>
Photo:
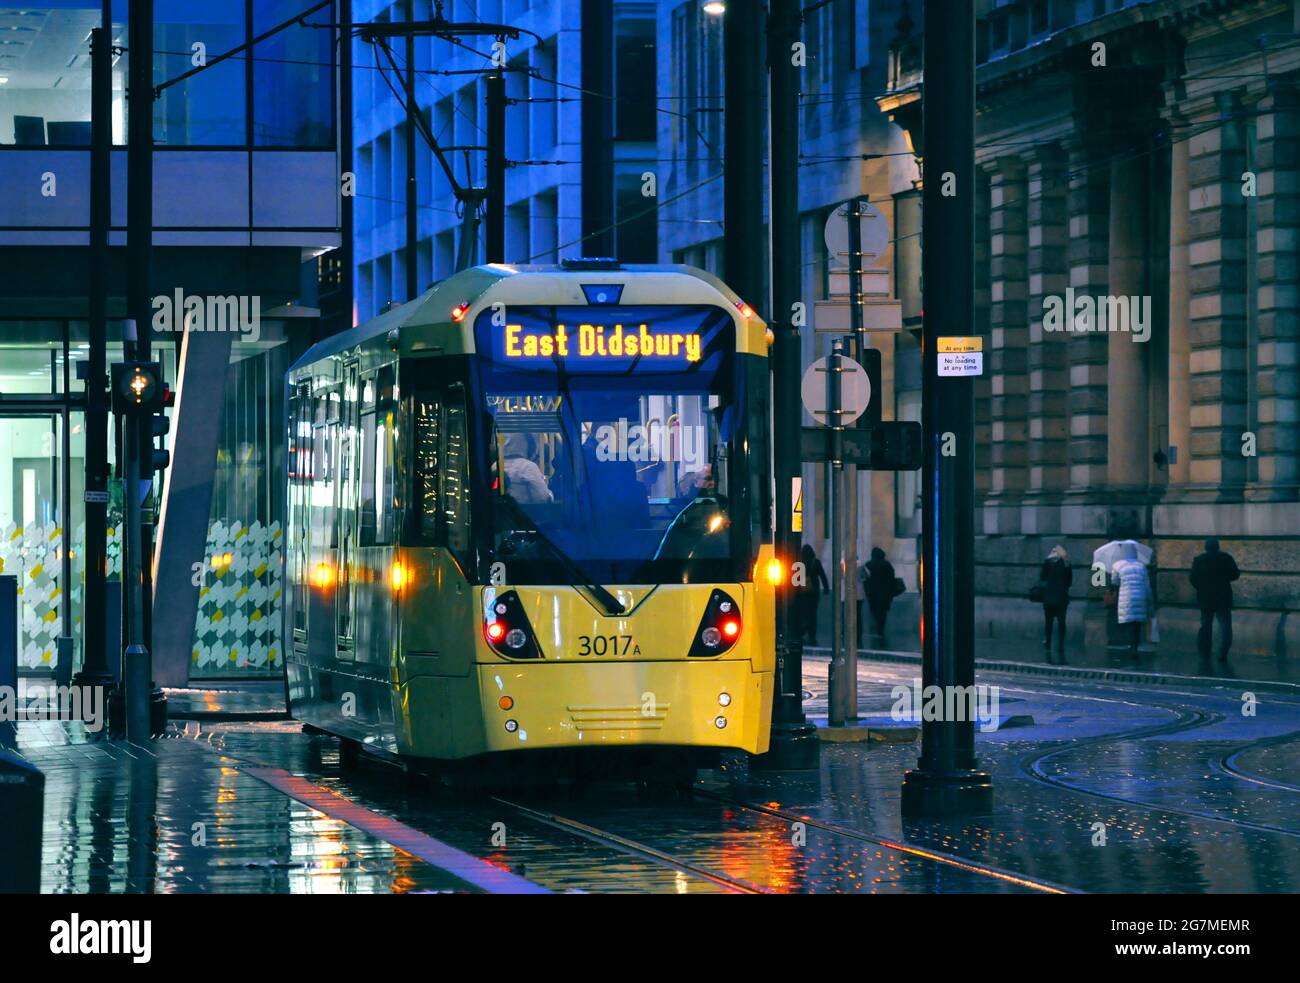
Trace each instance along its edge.
<path fill-rule="evenodd" d="M 863 711 L 887 713 L 893 687 L 914 676 L 911 666 L 863 663 Z M 750 772 L 737 758 L 702 775 L 708 797 L 610 784 L 512 791 L 504 802 L 436 793 L 382 766 L 343 768 L 333 739 L 287 722 L 187 722 L 159 744 L 156 758 L 61 742 L 49 723 L 22 732 L 20 746 L 49 776 L 48 891 L 469 889 L 285 798 L 243 771 L 251 765 L 304 775 L 552 891 L 1035 892 L 1057 884 L 1158 893 L 1300 884 L 1300 788 L 1290 787 L 1300 787 L 1300 700 L 1257 693 L 1249 716 L 1242 692 L 1227 688 L 1138 693 L 1067 679 L 982 681 L 1001 687 L 1004 715 L 1032 723 L 978 735 L 994 814 L 953 822 L 900 817 L 900 781 L 918 744 L 827 744 L 820 770 L 805 774 Z M 816 714 L 824 663 L 809 664 L 806 685 Z M 584 837 L 508 802 L 614 837 Z M 927 850 L 948 862 L 919 856 Z"/>

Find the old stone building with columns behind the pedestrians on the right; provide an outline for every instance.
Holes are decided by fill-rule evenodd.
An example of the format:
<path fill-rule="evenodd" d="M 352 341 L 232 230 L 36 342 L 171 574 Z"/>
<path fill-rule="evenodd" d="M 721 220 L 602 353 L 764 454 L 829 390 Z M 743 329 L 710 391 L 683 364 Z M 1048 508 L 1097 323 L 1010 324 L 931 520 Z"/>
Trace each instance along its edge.
<path fill-rule="evenodd" d="M 1243 571 L 1234 650 L 1294 655 L 1300 3 L 982 0 L 980 14 L 980 633 L 1041 632 L 1024 597 L 1063 542 L 1071 622 L 1104 642 L 1082 567 L 1136 538 L 1157 551 L 1161 646 L 1195 650 L 1187 575 L 1216 536 Z M 923 160 L 918 43 L 902 31 L 892 52 L 878 103 Z M 1088 304 L 1112 312 L 1105 330 Z M 1063 325 L 1048 316 L 1067 307 Z"/>

